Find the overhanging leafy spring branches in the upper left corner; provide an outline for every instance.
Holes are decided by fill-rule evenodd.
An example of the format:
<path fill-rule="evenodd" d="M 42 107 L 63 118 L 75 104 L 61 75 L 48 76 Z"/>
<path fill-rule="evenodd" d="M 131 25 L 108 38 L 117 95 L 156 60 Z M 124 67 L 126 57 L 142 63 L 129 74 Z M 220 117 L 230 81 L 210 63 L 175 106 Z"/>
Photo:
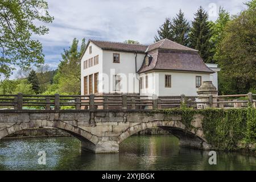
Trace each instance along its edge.
<path fill-rule="evenodd" d="M 47 34 L 53 18 L 44 0 L 0 1 L 0 74 L 10 76 L 13 65 L 22 69 L 44 62 L 42 44 L 33 35 Z"/>

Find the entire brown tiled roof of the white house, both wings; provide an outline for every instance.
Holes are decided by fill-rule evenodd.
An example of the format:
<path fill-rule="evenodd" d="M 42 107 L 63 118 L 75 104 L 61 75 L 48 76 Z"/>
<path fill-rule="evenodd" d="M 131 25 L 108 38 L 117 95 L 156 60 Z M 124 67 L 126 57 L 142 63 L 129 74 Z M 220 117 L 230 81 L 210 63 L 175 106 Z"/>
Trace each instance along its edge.
<path fill-rule="evenodd" d="M 168 39 L 160 40 L 150 46 L 126 44 L 119 42 L 107 42 L 100 40 L 90 40 L 101 49 L 113 51 L 127 51 L 147 53 L 152 56 L 150 65 L 142 65 L 139 73 L 152 69 L 173 70 L 173 71 L 192 71 L 213 73 L 205 65 L 197 50 L 182 46 Z"/>

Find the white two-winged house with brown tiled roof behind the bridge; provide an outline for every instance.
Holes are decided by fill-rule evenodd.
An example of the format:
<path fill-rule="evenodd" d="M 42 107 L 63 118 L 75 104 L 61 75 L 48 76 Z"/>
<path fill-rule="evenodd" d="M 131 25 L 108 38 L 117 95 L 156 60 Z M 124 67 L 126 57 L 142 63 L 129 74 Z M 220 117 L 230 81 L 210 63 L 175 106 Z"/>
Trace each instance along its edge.
<path fill-rule="evenodd" d="M 197 95 L 203 81 L 217 88 L 217 65 L 168 39 L 150 46 L 89 40 L 81 56 L 81 94 Z"/>

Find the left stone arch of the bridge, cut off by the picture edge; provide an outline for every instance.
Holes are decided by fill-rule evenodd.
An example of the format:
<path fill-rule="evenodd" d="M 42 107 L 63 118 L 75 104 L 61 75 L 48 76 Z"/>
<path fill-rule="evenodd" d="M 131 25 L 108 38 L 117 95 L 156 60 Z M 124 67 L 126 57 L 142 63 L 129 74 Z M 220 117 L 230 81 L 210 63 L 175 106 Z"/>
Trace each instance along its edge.
<path fill-rule="evenodd" d="M 14 123 L 13 125 L 6 127 L 1 130 L 0 139 L 6 137 L 7 135 L 16 133 L 17 131 L 31 129 L 36 127 L 53 127 L 56 129 L 67 131 L 67 133 L 73 135 L 77 139 L 81 140 L 81 142 L 89 143 L 90 145 L 96 145 L 98 137 L 90 134 L 88 131 L 81 129 L 71 123 L 64 122 L 61 120 L 53 120 L 53 121 L 30 121 L 23 123 Z"/>

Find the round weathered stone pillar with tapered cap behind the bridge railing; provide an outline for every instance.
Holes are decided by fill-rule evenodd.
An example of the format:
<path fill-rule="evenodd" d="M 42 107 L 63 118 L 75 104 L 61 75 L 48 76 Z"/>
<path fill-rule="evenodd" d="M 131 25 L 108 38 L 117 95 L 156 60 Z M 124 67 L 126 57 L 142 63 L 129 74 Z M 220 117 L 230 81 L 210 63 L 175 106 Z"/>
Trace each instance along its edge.
<path fill-rule="evenodd" d="M 197 90 L 198 94 L 198 102 L 209 102 L 209 104 L 197 104 L 197 107 L 203 106 L 203 107 L 217 107 L 217 104 L 212 104 L 212 102 L 217 102 L 217 98 L 212 98 L 212 96 L 218 95 L 218 90 L 216 87 L 212 84 L 212 81 L 203 81 L 203 84 L 200 86 L 200 88 Z M 208 98 L 200 97 L 200 96 L 207 96 Z M 211 100 L 212 99 L 212 100 Z"/>

